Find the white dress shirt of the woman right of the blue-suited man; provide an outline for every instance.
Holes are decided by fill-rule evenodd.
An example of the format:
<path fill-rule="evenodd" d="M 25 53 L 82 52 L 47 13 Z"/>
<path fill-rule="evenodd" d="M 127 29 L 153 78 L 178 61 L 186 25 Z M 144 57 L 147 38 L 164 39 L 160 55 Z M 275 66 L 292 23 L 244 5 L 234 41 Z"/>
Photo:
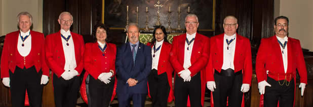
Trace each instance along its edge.
<path fill-rule="evenodd" d="M 161 49 L 162 49 L 162 44 L 163 44 L 163 41 L 155 41 L 155 45 L 153 47 L 155 47 L 155 50 L 158 49 L 158 47 L 160 46 L 160 49 L 158 51 L 156 51 L 154 53 L 154 50 L 153 50 L 153 47 L 151 49 L 151 55 L 152 55 L 152 68 L 151 69 L 156 69 L 158 70 L 158 65 L 159 65 L 159 59 L 160 59 L 160 53 L 161 53 Z M 153 55 L 155 55 L 153 57 Z"/>

